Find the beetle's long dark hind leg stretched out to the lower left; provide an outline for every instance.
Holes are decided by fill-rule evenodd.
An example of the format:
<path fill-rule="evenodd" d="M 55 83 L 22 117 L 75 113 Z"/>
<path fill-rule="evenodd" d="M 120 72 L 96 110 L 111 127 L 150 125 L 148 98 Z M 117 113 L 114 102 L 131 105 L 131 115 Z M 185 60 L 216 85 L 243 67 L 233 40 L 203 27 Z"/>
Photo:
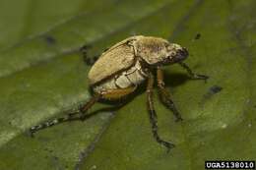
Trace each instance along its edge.
<path fill-rule="evenodd" d="M 44 123 L 41 123 L 39 125 L 33 126 L 30 129 L 30 133 L 31 135 L 33 135 L 33 133 L 57 125 L 57 124 L 61 124 L 63 122 L 68 122 L 68 121 L 72 121 L 72 120 L 84 120 L 87 116 L 86 112 L 96 103 L 96 101 L 101 97 L 101 94 L 96 94 L 93 98 L 91 98 L 83 107 L 81 107 L 78 111 L 72 112 L 67 114 L 64 117 L 60 117 L 60 118 L 56 118 L 56 119 L 52 119 L 49 121 L 46 121 Z"/>

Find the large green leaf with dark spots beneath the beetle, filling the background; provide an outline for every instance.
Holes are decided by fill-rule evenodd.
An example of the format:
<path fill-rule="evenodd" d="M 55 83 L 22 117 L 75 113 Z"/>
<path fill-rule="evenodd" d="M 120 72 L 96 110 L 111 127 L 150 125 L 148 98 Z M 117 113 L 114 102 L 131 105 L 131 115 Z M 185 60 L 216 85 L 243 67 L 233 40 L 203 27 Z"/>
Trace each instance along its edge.
<path fill-rule="evenodd" d="M 256 159 L 255 1 L 13 3 L 0 2 L 0 169 L 204 169 L 205 160 Z M 179 66 L 164 67 L 184 119 L 174 121 L 156 89 L 160 137 L 176 145 L 169 153 L 152 136 L 143 87 L 116 112 L 96 103 L 84 122 L 28 136 L 91 97 L 81 46 L 94 57 L 133 34 L 187 47 L 186 63 L 210 77 L 190 81 Z"/>

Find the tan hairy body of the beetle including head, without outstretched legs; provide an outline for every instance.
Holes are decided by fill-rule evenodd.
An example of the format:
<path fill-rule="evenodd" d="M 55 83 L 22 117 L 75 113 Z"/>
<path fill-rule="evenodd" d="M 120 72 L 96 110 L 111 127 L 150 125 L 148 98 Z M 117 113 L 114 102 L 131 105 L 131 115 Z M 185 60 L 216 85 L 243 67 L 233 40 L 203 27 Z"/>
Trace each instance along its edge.
<path fill-rule="evenodd" d="M 90 84 L 96 93 L 107 99 L 133 92 L 148 78 L 148 69 L 143 64 L 156 65 L 165 60 L 165 56 L 175 56 L 176 51 L 182 50 L 181 46 L 171 44 L 171 51 L 167 51 L 167 45 L 169 43 L 165 39 L 153 36 L 138 35 L 124 39 L 98 58 L 89 72 Z"/>

